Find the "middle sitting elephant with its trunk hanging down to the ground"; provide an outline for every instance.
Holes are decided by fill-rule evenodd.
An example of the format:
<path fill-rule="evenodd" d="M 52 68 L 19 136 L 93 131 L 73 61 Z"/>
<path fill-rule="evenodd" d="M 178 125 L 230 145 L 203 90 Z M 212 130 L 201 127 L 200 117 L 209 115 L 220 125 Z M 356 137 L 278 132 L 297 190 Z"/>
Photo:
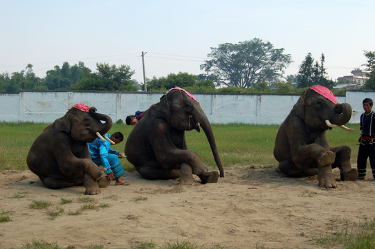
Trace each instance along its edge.
<path fill-rule="evenodd" d="M 200 127 L 210 143 L 220 177 L 223 177 L 210 122 L 194 96 L 179 87 L 167 91 L 160 102 L 152 104 L 143 113 L 127 138 L 127 160 L 149 180 L 180 178 L 181 184 L 192 184 L 195 174 L 203 184 L 217 183 L 218 172 L 209 172 L 199 154 L 186 146 L 185 131 L 196 129 L 199 132 Z"/>

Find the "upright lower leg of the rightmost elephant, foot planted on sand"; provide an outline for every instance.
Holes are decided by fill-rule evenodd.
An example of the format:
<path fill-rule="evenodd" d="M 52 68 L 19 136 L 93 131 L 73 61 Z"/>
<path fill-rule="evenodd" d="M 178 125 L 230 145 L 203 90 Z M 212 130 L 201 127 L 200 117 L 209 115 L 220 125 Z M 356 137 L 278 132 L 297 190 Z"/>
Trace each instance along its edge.
<path fill-rule="evenodd" d="M 318 158 L 318 186 L 336 188 L 337 184 L 332 174 L 331 164 L 334 163 L 336 155 L 332 151 L 326 151 Z"/>

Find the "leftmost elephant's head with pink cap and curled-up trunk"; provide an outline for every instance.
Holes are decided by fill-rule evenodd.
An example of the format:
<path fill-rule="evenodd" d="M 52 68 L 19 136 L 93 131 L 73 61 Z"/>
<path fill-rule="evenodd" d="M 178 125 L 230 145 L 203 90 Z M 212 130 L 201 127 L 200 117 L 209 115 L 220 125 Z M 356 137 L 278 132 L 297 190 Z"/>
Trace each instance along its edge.
<path fill-rule="evenodd" d="M 95 107 L 89 108 L 83 104 L 76 104 L 57 122 L 60 131 L 70 133 L 73 140 L 80 142 L 93 142 L 97 136 L 109 140 L 105 133 L 113 124 L 109 116 L 97 113 Z"/>

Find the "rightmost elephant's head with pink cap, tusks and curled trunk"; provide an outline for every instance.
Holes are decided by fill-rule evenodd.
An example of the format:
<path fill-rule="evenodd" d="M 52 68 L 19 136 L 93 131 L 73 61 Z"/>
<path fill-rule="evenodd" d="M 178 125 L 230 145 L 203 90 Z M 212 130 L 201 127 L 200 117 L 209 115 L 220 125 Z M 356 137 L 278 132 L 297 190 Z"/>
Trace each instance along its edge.
<path fill-rule="evenodd" d="M 307 127 L 313 131 L 323 131 L 344 126 L 351 118 L 351 106 L 347 103 L 338 104 L 333 93 L 323 86 L 311 86 L 302 93 L 294 105 L 291 115 L 299 116 Z"/>

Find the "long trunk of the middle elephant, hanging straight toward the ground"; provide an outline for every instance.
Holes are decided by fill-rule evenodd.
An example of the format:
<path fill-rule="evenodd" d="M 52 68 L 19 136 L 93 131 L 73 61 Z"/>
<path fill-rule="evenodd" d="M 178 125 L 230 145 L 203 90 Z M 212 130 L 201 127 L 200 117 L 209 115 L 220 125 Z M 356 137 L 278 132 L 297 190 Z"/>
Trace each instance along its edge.
<path fill-rule="evenodd" d="M 210 143 L 212 155 L 214 156 L 215 163 L 219 169 L 220 177 L 224 177 L 223 165 L 221 165 L 219 152 L 217 151 L 214 133 L 212 132 L 210 122 L 208 121 L 207 116 L 205 116 L 203 110 L 199 111 L 199 114 L 194 116 L 194 120 L 201 124 L 201 127 L 205 133 L 205 136 L 207 137 L 207 140 Z"/>

